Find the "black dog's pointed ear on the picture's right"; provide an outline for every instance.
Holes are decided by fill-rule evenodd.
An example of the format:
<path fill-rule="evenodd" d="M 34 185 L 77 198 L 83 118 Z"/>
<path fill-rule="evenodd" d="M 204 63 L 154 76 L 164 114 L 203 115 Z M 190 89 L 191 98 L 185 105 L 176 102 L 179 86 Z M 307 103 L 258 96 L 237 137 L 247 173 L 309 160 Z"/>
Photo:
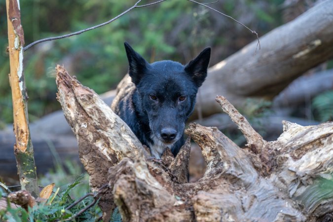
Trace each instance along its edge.
<path fill-rule="evenodd" d="M 185 66 L 185 72 L 192 77 L 197 87 L 202 85 L 207 76 L 207 68 L 210 58 L 211 48 L 208 47 Z"/>

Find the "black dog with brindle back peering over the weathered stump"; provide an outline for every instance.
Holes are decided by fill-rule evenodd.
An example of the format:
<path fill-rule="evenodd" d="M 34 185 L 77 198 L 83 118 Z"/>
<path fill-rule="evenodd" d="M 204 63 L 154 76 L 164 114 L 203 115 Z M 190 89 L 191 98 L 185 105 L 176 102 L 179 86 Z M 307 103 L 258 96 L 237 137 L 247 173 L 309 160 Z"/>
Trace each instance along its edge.
<path fill-rule="evenodd" d="M 124 44 L 130 77 L 118 85 L 111 108 L 150 148 L 152 156 L 159 159 L 165 148 L 176 156 L 184 144 L 185 121 L 207 76 L 211 49 L 205 48 L 183 66 L 173 61 L 149 64 L 128 43 Z"/>

